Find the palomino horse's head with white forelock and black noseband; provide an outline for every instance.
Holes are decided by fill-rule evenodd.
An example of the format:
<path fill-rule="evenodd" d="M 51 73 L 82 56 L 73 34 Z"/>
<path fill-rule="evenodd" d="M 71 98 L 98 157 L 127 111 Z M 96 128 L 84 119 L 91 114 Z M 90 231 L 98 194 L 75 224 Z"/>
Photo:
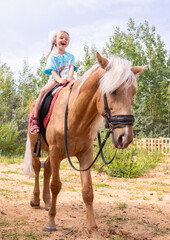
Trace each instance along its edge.
<path fill-rule="evenodd" d="M 102 68 L 98 112 L 113 129 L 113 143 L 117 148 L 126 148 L 133 140 L 133 116 L 131 104 L 136 93 L 136 76 L 147 66 L 132 67 L 131 62 L 119 57 L 109 61 L 97 53 Z"/>

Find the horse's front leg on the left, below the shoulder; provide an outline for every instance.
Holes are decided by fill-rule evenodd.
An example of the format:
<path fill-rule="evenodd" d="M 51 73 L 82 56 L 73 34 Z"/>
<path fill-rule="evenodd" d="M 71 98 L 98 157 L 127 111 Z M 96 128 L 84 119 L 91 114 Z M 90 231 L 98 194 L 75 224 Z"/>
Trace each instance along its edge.
<path fill-rule="evenodd" d="M 53 232 L 56 231 L 56 224 L 55 224 L 55 215 L 56 215 L 56 201 L 57 195 L 61 190 L 61 181 L 59 176 L 59 169 L 60 169 L 60 159 L 57 158 L 57 150 L 55 146 L 49 147 L 49 156 L 50 156 L 50 166 L 51 166 L 51 193 L 52 193 L 52 200 L 51 200 L 51 207 L 49 210 L 49 221 L 44 227 L 45 232 Z"/>

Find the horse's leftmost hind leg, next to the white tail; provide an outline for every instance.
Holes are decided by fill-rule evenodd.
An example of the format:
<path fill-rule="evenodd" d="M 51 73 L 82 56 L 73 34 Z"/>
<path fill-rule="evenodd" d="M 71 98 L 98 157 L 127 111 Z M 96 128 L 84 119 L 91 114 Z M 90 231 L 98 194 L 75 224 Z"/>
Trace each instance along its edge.
<path fill-rule="evenodd" d="M 33 164 L 33 169 L 35 173 L 35 184 L 34 184 L 34 190 L 33 190 L 33 197 L 30 201 L 30 205 L 31 207 L 39 207 L 40 206 L 39 173 L 41 168 L 41 163 L 39 158 L 33 156 L 32 164 Z"/>

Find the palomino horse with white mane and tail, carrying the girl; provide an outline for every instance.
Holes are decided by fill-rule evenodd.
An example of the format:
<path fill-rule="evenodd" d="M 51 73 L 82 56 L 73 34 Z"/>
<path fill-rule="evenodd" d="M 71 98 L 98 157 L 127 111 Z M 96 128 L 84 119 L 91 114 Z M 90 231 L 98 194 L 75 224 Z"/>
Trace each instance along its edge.
<path fill-rule="evenodd" d="M 111 116 L 131 115 L 131 103 L 136 93 L 136 75 L 145 67 L 132 67 L 131 62 L 113 57 L 110 60 L 97 53 L 98 64 L 88 70 L 84 76 L 74 81 L 68 112 L 68 150 L 70 156 L 76 156 L 80 169 L 88 168 L 93 158 L 93 140 L 104 118 L 104 98 Z M 60 163 L 66 157 L 64 146 L 64 116 L 69 85 L 60 92 L 55 102 L 50 121 L 47 126 L 46 138 L 49 147 L 42 140 L 42 148 L 49 152 L 44 164 L 43 200 L 45 208 L 49 210 L 49 221 L 44 231 L 55 231 L 56 200 L 61 189 Z M 32 105 L 31 111 L 34 105 Z M 35 186 L 31 206 L 39 206 L 39 172 L 41 163 L 39 158 L 32 155 L 37 136 L 30 134 L 25 153 L 25 173 L 35 173 Z M 113 144 L 116 148 L 126 148 L 133 140 L 132 125 L 124 125 L 114 129 Z M 51 185 L 50 185 L 50 177 Z M 86 206 L 87 229 L 92 237 L 100 239 L 93 212 L 93 188 L 90 170 L 80 172 L 82 182 L 82 196 Z M 50 199 L 50 186 L 52 198 Z"/>

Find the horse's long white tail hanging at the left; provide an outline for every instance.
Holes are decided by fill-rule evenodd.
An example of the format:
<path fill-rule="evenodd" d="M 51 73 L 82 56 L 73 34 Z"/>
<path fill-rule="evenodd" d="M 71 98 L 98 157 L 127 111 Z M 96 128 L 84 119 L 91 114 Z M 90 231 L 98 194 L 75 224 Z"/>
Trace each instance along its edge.
<path fill-rule="evenodd" d="M 24 174 L 29 177 L 34 176 L 33 166 L 32 166 L 32 153 L 31 153 L 31 142 L 29 135 L 27 134 L 27 142 L 24 156 Z"/>

